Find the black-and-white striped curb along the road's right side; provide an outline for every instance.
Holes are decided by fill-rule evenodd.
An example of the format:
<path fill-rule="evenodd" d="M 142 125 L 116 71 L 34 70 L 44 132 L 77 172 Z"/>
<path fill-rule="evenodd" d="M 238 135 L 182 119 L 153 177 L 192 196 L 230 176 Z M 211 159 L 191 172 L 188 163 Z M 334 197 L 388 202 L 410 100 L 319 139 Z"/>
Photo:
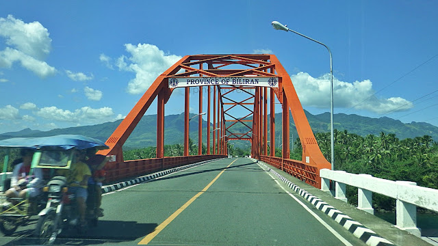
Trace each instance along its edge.
<path fill-rule="evenodd" d="M 257 160 L 255 160 L 257 161 Z M 296 193 L 305 198 L 308 202 L 310 202 L 315 208 L 321 210 L 326 215 L 329 215 L 333 220 L 335 220 L 339 225 L 346 228 L 349 232 L 355 235 L 357 238 L 361 239 L 361 241 L 365 242 L 365 244 L 370 246 L 385 246 L 385 245 L 394 245 L 387 239 L 379 236 L 376 232 L 366 228 L 361 223 L 353 220 L 348 215 L 345 215 L 341 211 L 337 210 L 330 204 L 320 200 L 320 198 L 315 197 L 311 193 L 305 191 L 305 189 L 301 189 L 298 185 L 290 182 L 285 177 L 281 176 L 277 172 L 275 172 L 272 168 L 266 166 L 265 164 L 258 162 L 264 168 L 268 169 L 267 172 L 272 172 L 275 176 L 277 176 L 281 181 L 285 182 L 289 188 L 294 190 Z"/>

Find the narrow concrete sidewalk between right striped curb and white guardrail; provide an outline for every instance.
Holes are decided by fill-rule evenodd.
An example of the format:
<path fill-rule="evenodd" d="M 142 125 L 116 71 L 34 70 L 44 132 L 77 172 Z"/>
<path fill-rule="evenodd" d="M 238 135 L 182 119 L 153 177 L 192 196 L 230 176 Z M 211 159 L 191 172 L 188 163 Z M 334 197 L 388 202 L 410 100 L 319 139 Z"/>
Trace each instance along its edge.
<path fill-rule="evenodd" d="M 264 162 L 263 162 L 264 163 Z M 311 193 L 313 196 L 320 198 L 320 200 L 323 200 L 327 204 L 330 204 L 337 210 L 341 211 L 345 215 L 348 215 L 355 221 L 363 224 L 363 226 L 366 226 L 370 230 L 373 230 L 376 232 L 376 234 L 380 235 L 383 238 L 386 238 L 387 240 L 391 241 L 395 245 L 400 246 L 412 246 L 412 245 L 418 245 L 418 246 L 430 246 L 429 243 L 422 240 L 422 238 L 419 238 L 417 236 L 414 236 L 413 234 L 410 234 L 409 232 L 406 232 L 404 230 L 400 230 L 396 228 L 393 224 L 378 218 L 374 215 L 371 215 L 370 213 L 366 213 L 363 210 L 359 210 L 355 206 L 352 206 L 346 202 L 342 202 L 341 200 L 337 200 L 333 195 L 326 193 L 324 191 L 321 191 L 318 188 L 312 187 L 309 184 L 306 184 L 305 182 L 302 182 L 298 178 L 295 178 L 291 176 L 290 174 L 287 174 L 286 172 L 281 171 L 280 169 L 276 169 L 275 167 L 272 167 L 271 165 L 268 165 L 268 167 L 273 169 L 275 172 L 289 180 L 290 182 L 296 184 L 301 189 L 304 189 L 305 191 Z M 311 205 L 313 206 L 313 205 Z M 328 215 L 327 215 L 328 216 Z"/>

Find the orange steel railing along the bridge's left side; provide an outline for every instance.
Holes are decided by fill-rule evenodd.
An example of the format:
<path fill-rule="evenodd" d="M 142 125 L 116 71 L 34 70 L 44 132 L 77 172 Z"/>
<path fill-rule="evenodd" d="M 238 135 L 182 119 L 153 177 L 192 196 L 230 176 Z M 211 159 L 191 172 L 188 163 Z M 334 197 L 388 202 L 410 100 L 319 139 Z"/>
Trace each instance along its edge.
<path fill-rule="evenodd" d="M 200 161 L 218 159 L 223 155 L 195 155 L 195 156 L 171 156 L 164 158 L 152 158 L 124 161 L 123 163 L 107 163 L 105 165 L 105 182 L 132 178 L 135 176 L 151 174 L 164 169 L 188 165 Z"/>

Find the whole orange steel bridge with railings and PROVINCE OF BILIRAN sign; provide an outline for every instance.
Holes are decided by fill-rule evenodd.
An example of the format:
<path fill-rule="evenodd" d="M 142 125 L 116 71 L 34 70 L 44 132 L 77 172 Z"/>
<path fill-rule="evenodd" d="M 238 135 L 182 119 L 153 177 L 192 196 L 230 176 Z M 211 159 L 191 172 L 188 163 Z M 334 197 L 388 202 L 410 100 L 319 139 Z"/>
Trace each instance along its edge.
<path fill-rule="evenodd" d="M 189 155 L 190 89 L 199 95 L 198 155 Z M 164 105 L 174 90 L 185 90 L 184 155 L 164 156 Z M 207 154 L 202 154 L 203 90 L 207 93 Z M 232 92 L 241 92 L 234 98 Z M 243 96 L 243 98 L 242 98 Z M 123 159 L 123 144 L 153 100 L 157 99 L 157 158 L 135 161 Z M 282 106 L 282 126 L 275 128 L 274 99 Z M 211 110 L 212 108 L 212 110 Z M 240 108 L 243 117 L 233 115 Z M 269 109 L 269 116 L 268 116 Z M 289 159 L 289 110 L 302 145 L 302 161 Z M 268 133 L 268 124 L 270 131 Z M 244 131 L 233 129 L 240 125 Z M 281 131 L 282 157 L 276 157 L 275 131 Z M 107 180 L 114 181 L 180 165 L 227 156 L 227 141 L 246 140 L 251 155 L 274 167 L 320 187 L 320 169 L 331 169 L 322 155 L 302 109 L 294 85 L 275 55 L 186 55 L 163 72 L 123 122 L 105 142 L 110 149 L 100 154 L 114 155 L 107 163 Z M 212 143 L 212 144 L 211 144 Z M 268 144 L 269 143 L 269 144 Z M 211 151 L 212 147 L 212 151 Z"/>

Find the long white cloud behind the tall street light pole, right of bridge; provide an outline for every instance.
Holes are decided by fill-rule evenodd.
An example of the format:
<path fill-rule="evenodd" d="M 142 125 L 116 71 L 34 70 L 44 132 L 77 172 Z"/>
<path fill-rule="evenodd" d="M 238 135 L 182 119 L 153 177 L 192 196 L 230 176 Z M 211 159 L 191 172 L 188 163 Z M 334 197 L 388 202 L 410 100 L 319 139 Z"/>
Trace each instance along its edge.
<path fill-rule="evenodd" d="M 319 108 L 329 107 L 330 74 L 313 78 L 307 72 L 298 72 L 298 74 L 292 75 L 291 79 L 302 105 Z M 385 113 L 393 109 L 406 111 L 413 107 L 412 102 L 404 98 L 378 98 L 373 96 L 374 93 L 372 82 L 368 79 L 348 83 L 333 77 L 333 103 L 335 107 L 355 107 L 355 109 L 364 109 L 374 113 Z M 401 107 L 403 105 L 405 106 Z"/>

